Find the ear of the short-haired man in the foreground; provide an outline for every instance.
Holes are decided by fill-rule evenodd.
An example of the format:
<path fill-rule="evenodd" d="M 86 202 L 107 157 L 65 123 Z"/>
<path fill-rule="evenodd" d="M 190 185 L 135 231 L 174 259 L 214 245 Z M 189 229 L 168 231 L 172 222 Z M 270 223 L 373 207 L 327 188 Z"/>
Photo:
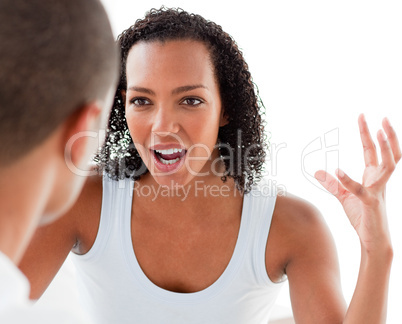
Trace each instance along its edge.
<path fill-rule="evenodd" d="M 84 166 L 100 142 L 102 108 L 91 102 L 74 112 L 64 123 L 63 155 L 66 163 Z"/>

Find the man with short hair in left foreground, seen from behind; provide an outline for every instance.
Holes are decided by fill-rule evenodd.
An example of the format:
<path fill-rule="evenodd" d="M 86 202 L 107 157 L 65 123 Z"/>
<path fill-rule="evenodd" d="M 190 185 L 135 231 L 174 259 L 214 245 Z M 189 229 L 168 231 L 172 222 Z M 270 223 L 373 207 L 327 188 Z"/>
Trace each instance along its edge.
<path fill-rule="evenodd" d="M 97 147 L 117 53 L 99 0 L 0 1 L 0 323 L 76 322 L 29 307 L 16 265 L 80 193 L 85 178 L 66 159 L 85 169 Z"/>

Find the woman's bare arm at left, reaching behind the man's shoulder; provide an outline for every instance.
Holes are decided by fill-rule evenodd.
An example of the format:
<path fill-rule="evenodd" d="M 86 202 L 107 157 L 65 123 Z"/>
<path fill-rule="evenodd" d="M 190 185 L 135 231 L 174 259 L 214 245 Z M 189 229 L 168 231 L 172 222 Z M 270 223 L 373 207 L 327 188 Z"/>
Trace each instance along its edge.
<path fill-rule="evenodd" d="M 38 299 L 69 252 L 86 253 L 96 238 L 102 201 L 102 180 L 88 178 L 75 205 L 57 221 L 40 227 L 19 264 L 31 284 L 31 299 Z"/>

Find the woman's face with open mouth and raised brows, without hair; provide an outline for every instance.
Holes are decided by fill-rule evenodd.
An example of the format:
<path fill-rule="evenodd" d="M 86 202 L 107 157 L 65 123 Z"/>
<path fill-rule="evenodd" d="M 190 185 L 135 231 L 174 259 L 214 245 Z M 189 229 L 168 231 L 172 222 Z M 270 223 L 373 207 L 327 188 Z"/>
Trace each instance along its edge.
<path fill-rule="evenodd" d="M 223 117 L 206 46 L 192 40 L 140 42 L 127 58 L 127 124 L 161 185 L 183 186 L 216 174 Z"/>

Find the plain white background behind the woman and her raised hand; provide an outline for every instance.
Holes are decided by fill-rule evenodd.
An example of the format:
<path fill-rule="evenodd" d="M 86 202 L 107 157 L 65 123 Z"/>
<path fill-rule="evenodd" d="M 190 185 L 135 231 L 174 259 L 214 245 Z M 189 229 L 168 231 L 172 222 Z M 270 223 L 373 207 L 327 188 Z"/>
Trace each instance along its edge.
<path fill-rule="evenodd" d="M 309 174 L 326 168 L 333 173 L 339 166 L 361 181 L 364 161 L 357 128 L 359 113 L 365 113 L 374 137 L 382 118 L 387 116 L 402 138 L 401 2 L 103 3 L 116 36 L 150 8 L 164 4 L 215 21 L 237 41 L 266 106 L 273 152 L 267 173 L 277 184 L 312 202 L 322 212 L 337 245 L 342 288 L 349 302 L 359 269 L 359 241 L 339 202 Z M 306 154 L 320 148 L 320 143 L 322 149 Z M 402 323 L 401 180 L 399 165 L 387 188 L 394 246 L 387 321 L 391 324 Z M 290 309 L 286 288 L 278 303 Z"/>

